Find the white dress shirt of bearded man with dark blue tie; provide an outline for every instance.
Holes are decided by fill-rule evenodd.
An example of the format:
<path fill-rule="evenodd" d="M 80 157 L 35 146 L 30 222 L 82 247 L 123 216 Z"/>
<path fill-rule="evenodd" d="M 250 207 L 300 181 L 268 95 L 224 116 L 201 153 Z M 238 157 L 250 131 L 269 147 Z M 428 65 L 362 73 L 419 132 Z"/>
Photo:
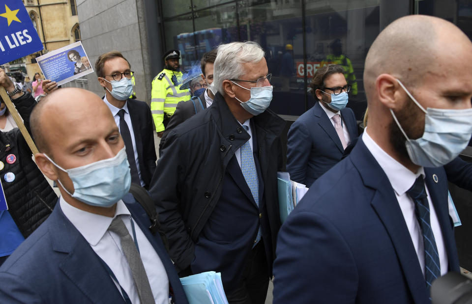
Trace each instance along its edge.
<path fill-rule="evenodd" d="M 416 178 L 419 175 L 423 175 L 424 178 L 424 169 L 423 167 L 418 169 L 418 172 L 413 173 L 407 167 L 403 166 L 385 151 L 382 150 L 379 145 L 368 135 L 367 128 L 362 134 L 362 141 L 364 142 L 367 149 L 374 156 L 375 160 L 382 167 L 383 171 L 387 175 L 390 184 L 395 192 L 395 195 L 402 210 L 405 223 L 407 224 L 408 231 L 413 241 L 414 249 L 416 250 L 416 255 L 418 256 L 419 265 L 423 271 L 424 276 L 424 245 L 423 245 L 423 234 L 421 233 L 421 228 L 416 219 L 414 213 L 414 202 L 413 199 L 406 192 L 413 186 Z M 436 247 L 439 253 L 439 260 L 441 266 L 441 275 L 447 273 L 448 268 L 448 259 L 447 254 L 444 248 L 444 240 L 442 238 L 441 226 L 439 225 L 438 217 L 436 216 L 436 211 L 431 202 L 431 196 L 429 195 L 428 187 L 426 186 L 426 194 L 428 195 L 429 211 L 430 211 L 430 223 L 431 229 L 433 230 L 433 235 L 436 240 Z M 446 202 L 444 202 L 446 203 Z"/>

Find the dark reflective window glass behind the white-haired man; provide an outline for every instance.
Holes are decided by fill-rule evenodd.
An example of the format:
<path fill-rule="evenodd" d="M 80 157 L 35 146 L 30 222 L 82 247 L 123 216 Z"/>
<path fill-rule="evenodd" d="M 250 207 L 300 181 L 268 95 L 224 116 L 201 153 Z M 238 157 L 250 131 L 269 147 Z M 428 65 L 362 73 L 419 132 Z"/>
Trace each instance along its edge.
<path fill-rule="evenodd" d="M 353 86 L 349 106 L 360 119 L 366 107 L 364 60 L 380 32 L 380 2 L 192 0 L 192 12 L 190 0 L 183 0 L 181 5 L 163 1 L 166 48 L 180 50 L 182 67 L 188 69 L 221 43 L 258 42 L 266 51 L 268 70 L 273 75 L 270 108 L 279 114 L 300 115 L 309 109 L 314 100 L 305 90 L 304 76 L 310 82 L 323 64 L 341 64 Z M 179 14 L 184 15 L 172 17 Z"/>

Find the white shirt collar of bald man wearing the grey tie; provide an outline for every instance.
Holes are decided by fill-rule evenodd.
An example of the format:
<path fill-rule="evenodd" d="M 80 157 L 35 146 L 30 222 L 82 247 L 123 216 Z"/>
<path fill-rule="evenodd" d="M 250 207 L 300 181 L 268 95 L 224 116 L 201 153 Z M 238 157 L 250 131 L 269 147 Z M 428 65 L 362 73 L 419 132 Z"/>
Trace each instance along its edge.
<path fill-rule="evenodd" d="M 90 213 L 67 203 L 62 196 L 59 198 L 60 209 L 65 217 L 74 225 L 91 246 L 95 246 L 103 238 L 113 219 L 118 215 L 131 215 L 120 199 L 113 218 Z"/>

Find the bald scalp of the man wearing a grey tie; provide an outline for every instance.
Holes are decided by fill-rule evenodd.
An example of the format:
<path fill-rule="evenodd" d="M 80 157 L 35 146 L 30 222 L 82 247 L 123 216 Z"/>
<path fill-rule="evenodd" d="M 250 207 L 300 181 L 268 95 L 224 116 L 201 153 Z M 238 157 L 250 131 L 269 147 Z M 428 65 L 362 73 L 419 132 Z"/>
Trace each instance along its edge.
<path fill-rule="evenodd" d="M 63 88 L 45 96 L 30 116 L 31 133 L 40 152 L 52 154 L 51 145 L 64 128 L 73 129 L 86 117 L 113 120 L 113 115 L 96 94 L 80 88 Z"/>

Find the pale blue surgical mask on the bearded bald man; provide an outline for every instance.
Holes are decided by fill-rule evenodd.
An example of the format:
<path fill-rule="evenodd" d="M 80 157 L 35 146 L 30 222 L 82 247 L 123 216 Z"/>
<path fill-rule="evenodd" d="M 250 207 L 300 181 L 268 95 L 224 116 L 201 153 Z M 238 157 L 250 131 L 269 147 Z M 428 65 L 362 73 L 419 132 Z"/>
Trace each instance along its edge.
<path fill-rule="evenodd" d="M 426 110 L 398 79 L 397 82 L 408 96 L 425 113 L 424 133 L 418 139 L 408 138 L 397 117 L 390 109 L 393 119 L 407 141 L 408 155 L 413 164 L 425 167 L 439 167 L 454 160 L 467 146 L 472 136 L 472 109 L 467 110 Z"/>

